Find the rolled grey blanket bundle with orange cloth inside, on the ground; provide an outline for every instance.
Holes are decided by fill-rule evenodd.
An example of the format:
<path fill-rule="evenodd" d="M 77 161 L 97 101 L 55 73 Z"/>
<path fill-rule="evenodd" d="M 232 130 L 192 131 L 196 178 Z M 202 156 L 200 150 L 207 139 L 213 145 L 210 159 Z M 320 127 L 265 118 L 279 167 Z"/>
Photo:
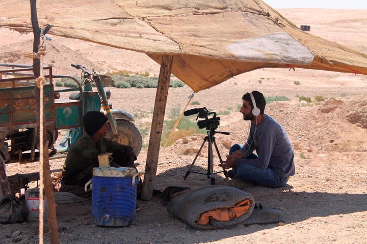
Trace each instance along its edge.
<path fill-rule="evenodd" d="M 255 200 L 249 193 L 211 185 L 173 199 L 167 211 L 197 229 L 222 229 L 242 224 L 254 207 Z"/>

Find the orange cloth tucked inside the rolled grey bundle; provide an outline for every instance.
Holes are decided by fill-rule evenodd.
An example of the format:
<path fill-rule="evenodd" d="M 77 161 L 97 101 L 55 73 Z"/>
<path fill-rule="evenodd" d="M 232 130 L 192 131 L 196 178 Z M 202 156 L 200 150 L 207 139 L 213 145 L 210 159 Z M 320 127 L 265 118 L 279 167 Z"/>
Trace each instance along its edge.
<path fill-rule="evenodd" d="M 210 219 L 216 219 L 219 221 L 229 221 L 233 218 L 239 218 L 240 216 L 246 214 L 250 207 L 250 200 L 245 199 L 235 205 L 227 208 L 221 207 L 214 210 L 208 210 L 200 215 L 197 223 L 199 225 L 209 224 Z"/>

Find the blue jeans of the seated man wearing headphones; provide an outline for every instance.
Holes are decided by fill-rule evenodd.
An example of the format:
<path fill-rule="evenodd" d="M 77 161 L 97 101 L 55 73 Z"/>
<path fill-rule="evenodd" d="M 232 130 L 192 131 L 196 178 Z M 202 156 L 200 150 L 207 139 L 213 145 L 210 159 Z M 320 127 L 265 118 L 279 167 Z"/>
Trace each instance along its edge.
<path fill-rule="evenodd" d="M 241 148 L 241 145 L 234 144 L 229 149 L 229 155 L 231 155 L 234 151 L 240 150 Z M 246 159 L 257 158 L 257 155 L 251 154 Z M 263 169 L 251 164 L 241 164 L 238 168 L 233 167 L 232 170 L 234 178 L 238 178 L 245 182 L 263 187 L 280 188 L 284 187 L 288 181 L 286 177 L 280 177 L 276 171 L 271 168 Z"/>

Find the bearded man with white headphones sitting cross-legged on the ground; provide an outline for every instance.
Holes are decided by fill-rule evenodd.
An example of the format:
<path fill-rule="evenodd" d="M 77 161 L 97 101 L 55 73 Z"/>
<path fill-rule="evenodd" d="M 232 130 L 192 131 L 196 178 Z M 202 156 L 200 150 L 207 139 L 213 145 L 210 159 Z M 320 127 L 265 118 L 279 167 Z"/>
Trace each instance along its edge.
<path fill-rule="evenodd" d="M 244 146 L 235 144 L 227 160 L 219 164 L 230 169 L 228 177 L 255 185 L 280 188 L 295 174 L 294 151 L 285 130 L 265 110 L 265 98 L 254 90 L 243 97 L 240 112 L 250 120 L 250 132 Z M 256 151 L 256 154 L 253 153 Z"/>

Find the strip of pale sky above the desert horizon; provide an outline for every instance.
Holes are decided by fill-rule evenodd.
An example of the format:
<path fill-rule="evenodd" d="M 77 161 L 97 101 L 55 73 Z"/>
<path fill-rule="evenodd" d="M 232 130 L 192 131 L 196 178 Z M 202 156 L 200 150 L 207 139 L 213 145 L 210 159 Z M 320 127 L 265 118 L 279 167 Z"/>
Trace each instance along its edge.
<path fill-rule="evenodd" d="M 263 0 L 273 9 L 367 9 L 366 0 Z"/>

